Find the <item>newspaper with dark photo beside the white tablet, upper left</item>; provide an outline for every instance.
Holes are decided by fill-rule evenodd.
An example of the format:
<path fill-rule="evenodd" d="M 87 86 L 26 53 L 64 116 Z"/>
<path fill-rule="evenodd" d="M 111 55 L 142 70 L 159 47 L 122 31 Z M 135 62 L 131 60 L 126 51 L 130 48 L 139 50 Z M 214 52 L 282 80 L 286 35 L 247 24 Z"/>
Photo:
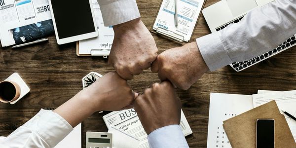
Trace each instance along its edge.
<path fill-rule="evenodd" d="M 48 0 L 0 0 L 2 46 L 33 41 L 53 33 Z"/>

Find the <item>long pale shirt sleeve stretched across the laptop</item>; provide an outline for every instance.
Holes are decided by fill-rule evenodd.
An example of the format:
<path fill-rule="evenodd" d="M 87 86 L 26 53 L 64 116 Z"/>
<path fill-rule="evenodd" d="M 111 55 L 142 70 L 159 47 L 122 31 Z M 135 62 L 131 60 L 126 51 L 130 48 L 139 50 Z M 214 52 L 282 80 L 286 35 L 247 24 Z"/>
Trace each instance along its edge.
<path fill-rule="evenodd" d="M 276 0 L 250 11 L 241 22 L 196 39 L 200 53 L 215 71 L 266 53 L 296 34 L 296 0 Z"/>

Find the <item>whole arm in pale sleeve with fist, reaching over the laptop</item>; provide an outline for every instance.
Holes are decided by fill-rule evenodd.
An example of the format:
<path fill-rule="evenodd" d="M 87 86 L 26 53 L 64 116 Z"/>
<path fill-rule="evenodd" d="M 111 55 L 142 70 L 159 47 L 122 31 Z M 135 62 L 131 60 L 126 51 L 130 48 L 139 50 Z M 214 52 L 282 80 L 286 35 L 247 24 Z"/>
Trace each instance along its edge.
<path fill-rule="evenodd" d="M 161 80 L 188 89 L 207 71 L 266 53 L 296 34 L 296 0 L 276 0 L 239 23 L 162 52 L 151 66 Z M 178 71 L 176 71 L 176 69 Z"/>

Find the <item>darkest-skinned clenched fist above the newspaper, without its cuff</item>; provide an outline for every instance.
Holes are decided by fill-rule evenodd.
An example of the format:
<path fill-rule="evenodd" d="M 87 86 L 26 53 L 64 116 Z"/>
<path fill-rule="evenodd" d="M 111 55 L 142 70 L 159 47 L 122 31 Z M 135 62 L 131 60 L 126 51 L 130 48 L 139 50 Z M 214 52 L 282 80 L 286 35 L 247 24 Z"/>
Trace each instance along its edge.
<path fill-rule="evenodd" d="M 136 98 L 134 106 L 148 135 L 158 128 L 180 124 L 181 102 L 169 81 L 154 83 Z"/>

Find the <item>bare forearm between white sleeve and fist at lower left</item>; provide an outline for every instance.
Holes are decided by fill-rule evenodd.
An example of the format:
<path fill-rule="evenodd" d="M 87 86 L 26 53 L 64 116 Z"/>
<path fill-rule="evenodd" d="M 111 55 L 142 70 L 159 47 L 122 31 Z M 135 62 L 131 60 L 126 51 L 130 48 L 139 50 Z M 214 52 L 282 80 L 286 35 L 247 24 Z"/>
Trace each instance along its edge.
<path fill-rule="evenodd" d="M 82 91 L 80 91 L 53 112 L 59 114 L 72 127 L 75 127 L 95 112 L 95 109 L 92 107 L 93 103 L 91 98 L 88 98 L 82 93 Z"/>

